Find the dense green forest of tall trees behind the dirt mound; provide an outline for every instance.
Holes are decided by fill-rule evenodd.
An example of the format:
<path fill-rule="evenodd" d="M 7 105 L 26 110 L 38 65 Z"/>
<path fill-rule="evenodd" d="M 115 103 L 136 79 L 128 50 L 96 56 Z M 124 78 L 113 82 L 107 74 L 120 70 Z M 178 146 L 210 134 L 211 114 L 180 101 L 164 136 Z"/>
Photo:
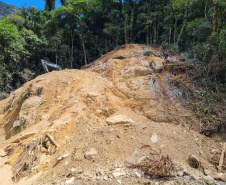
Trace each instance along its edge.
<path fill-rule="evenodd" d="M 153 45 L 198 63 L 194 79 L 225 92 L 225 0 L 55 0 L 0 20 L 0 98 L 44 73 L 41 59 L 80 68 L 117 46 Z"/>

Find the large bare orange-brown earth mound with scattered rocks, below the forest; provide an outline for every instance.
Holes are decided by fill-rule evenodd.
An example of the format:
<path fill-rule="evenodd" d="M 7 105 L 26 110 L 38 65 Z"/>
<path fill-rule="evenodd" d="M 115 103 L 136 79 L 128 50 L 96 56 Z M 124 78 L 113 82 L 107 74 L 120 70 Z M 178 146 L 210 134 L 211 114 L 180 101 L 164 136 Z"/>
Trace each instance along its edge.
<path fill-rule="evenodd" d="M 13 179 L 43 172 L 34 184 L 146 182 L 140 169 L 129 166 L 159 150 L 177 169 L 202 176 L 187 163 L 196 155 L 215 173 L 221 146 L 195 131 L 198 120 L 175 84 L 186 81 L 185 71 L 173 76 L 163 59 L 144 56 L 147 50 L 158 54 L 143 45 L 120 47 L 83 70 L 41 75 L 1 101 L 1 155 L 8 157 Z"/>

